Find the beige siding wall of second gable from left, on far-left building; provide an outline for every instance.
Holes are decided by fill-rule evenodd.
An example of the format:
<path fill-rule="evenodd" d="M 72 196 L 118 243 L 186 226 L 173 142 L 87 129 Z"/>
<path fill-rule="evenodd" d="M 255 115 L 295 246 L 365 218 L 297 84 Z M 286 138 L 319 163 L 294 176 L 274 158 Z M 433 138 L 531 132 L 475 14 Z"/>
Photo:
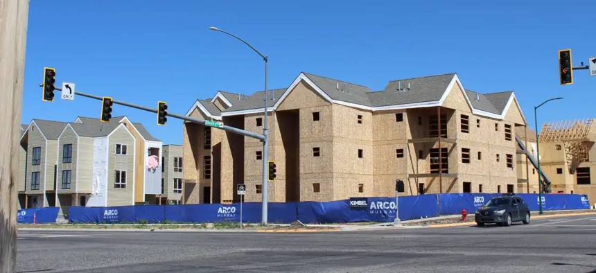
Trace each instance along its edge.
<path fill-rule="evenodd" d="M 75 193 L 76 191 L 76 173 L 77 173 L 77 152 L 78 152 L 78 138 L 72 127 L 67 126 L 62 132 L 62 136 L 58 139 L 58 173 L 56 174 L 56 183 L 58 183 L 58 193 Z M 72 145 L 72 160 L 71 163 L 64 163 L 64 145 Z M 62 188 L 62 171 L 71 170 L 71 186 L 70 188 Z"/>

